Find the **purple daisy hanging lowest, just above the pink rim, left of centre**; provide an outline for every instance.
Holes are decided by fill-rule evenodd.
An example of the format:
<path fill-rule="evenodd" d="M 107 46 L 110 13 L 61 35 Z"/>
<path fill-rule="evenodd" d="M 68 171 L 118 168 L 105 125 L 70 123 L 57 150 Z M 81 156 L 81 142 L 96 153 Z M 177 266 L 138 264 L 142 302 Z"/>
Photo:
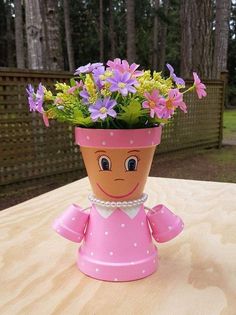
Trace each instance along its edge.
<path fill-rule="evenodd" d="M 89 107 L 92 120 L 97 121 L 99 118 L 104 120 L 107 116 L 116 117 L 114 106 L 116 106 L 116 101 L 111 100 L 110 97 L 97 100 L 94 105 Z"/>

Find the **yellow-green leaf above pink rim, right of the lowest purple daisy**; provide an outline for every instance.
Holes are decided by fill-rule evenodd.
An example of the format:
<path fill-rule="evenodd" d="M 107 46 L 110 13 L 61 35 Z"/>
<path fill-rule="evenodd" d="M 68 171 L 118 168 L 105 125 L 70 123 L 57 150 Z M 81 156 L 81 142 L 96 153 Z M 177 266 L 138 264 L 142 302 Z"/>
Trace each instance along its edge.
<path fill-rule="evenodd" d="M 129 127 L 137 125 L 139 118 L 146 114 L 137 100 L 132 100 L 129 105 L 120 107 L 123 112 L 120 112 L 116 118 L 125 122 Z"/>

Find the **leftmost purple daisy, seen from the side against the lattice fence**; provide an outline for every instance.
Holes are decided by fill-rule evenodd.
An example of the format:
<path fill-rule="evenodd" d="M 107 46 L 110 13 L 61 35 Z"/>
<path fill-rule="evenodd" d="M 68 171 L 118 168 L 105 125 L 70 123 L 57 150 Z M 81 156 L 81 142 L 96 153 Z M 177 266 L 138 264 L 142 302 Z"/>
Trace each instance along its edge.
<path fill-rule="evenodd" d="M 42 83 L 39 84 L 36 93 L 34 92 L 34 88 L 31 84 L 28 85 L 26 92 L 28 93 L 30 111 L 31 112 L 37 111 L 42 114 L 43 113 L 43 97 L 44 97 L 44 90 L 43 90 Z"/>

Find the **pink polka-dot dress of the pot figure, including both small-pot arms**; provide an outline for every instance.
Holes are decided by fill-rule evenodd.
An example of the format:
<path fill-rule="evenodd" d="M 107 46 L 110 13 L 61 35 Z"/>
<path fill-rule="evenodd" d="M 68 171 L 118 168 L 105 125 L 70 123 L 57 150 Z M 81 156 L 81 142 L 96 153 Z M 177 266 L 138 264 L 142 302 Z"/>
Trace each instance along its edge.
<path fill-rule="evenodd" d="M 53 227 L 72 241 L 80 242 L 84 236 L 77 256 L 83 273 L 100 280 L 131 281 L 157 269 L 151 231 L 164 242 L 182 231 L 183 222 L 162 205 L 147 214 L 143 205 L 131 209 L 92 205 L 90 215 L 73 205 Z"/>

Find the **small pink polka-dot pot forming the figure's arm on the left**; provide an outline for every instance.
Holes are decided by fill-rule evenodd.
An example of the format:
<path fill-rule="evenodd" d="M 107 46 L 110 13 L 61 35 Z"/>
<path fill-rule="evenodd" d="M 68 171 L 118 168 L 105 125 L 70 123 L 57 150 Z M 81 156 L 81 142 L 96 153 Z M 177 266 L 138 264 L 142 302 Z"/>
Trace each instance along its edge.
<path fill-rule="evenodd" d="M 52 228 L 68 240 L 80 243 L 84 238 L 88 220 L 89 213 L 80 206 L 72 204 L 53 222 Z"/>

